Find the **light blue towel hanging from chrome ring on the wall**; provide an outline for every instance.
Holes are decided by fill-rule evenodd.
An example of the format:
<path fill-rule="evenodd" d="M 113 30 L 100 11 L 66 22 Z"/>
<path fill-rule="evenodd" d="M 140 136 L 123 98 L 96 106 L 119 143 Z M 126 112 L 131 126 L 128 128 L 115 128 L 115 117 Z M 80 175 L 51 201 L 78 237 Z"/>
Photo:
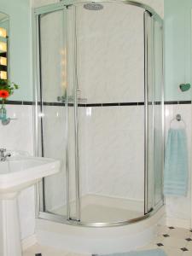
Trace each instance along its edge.
<path fill-rule="evenodd" d="M 184 129 L 170 129 L 168 132 L 164 177 L 166 195 L 187 195 L 188 150 Z"/>

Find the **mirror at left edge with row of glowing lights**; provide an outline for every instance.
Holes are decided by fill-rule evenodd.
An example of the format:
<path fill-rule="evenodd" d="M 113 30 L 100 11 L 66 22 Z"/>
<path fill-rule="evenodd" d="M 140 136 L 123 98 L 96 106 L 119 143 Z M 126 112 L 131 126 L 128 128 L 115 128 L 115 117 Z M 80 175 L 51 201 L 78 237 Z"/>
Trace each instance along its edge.
<path fill-rule="evenodd" d="M 0 13 L 0 79 L 8 79 L 9 15 Z"/>

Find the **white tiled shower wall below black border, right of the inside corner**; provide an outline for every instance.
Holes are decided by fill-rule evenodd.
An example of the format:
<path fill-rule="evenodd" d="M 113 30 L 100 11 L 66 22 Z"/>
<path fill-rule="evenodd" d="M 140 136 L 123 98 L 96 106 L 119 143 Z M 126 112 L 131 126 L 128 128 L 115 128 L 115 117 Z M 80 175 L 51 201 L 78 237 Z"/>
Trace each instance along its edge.
<path fill-rule="evenodd" d="M 91 108 L 85 148 L 90 194 L 143 201 L 143 115 L 143 106 Z"/>

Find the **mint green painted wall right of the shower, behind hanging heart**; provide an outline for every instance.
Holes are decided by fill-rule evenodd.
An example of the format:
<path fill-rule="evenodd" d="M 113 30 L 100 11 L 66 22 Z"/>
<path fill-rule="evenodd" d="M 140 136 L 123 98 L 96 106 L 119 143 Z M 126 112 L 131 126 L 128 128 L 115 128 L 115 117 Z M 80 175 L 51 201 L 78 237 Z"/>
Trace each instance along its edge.
<path fill-rule="evenodd" d="M 165 96 L 167 101 L 191 100 L 191 89 L 178 86 L 191 81 L 192 0 L 165 0 Z"/>

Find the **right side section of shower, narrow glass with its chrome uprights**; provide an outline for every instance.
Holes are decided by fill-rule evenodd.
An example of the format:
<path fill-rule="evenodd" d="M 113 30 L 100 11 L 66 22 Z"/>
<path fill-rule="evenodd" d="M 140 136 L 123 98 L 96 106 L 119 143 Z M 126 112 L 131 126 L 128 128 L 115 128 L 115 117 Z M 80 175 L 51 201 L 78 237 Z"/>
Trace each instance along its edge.
<path fill-rule="evenodd" d="M 163 203 L 163 28 L 160 20 L 156 20 L 156 17 L 151 17 L 148 13 L 145 14 L 145 25 L 148 38 L 148 195 L 145 211 L 148 212 Z"/>

